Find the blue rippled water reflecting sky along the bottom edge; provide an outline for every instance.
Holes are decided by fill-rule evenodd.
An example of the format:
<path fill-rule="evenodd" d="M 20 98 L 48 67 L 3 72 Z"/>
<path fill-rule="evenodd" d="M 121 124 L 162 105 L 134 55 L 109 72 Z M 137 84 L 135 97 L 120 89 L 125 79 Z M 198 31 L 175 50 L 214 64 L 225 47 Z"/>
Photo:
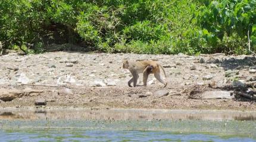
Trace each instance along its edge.
<path fill-rule="evenodd" d="M 255 141 L 238 135 L 182 134 L 166 131 L 0 131 L 6 141 Z"/>

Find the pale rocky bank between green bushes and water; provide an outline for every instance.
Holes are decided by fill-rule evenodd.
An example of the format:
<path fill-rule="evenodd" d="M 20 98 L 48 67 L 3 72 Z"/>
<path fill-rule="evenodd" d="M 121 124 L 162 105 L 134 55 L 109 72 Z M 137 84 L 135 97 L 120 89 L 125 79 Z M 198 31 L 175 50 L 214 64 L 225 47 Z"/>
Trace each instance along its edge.
<path fill-rule="evenodd" d="M 151 75 L 148 86 L 129 88 L 123 59 L 158 60 L 167 72 L 167 87 Z M 241 99 L 230 92 L 235 86 L 254 92 L 255 69 L 256 58 L 245 55 L 10 53 L 0 56 L 0 106 L 254 110 L 253 94 Z"/>

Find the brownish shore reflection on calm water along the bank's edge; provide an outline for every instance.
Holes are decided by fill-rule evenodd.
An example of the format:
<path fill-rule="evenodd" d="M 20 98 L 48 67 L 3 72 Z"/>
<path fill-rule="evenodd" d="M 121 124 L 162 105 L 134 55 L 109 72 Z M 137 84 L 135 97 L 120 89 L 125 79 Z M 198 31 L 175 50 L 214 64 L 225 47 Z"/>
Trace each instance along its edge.
<path fill-rule="evenodd" d="M 0 120 L 256 120 L 256 111 L 162 109 L 7 109 Z"/>

